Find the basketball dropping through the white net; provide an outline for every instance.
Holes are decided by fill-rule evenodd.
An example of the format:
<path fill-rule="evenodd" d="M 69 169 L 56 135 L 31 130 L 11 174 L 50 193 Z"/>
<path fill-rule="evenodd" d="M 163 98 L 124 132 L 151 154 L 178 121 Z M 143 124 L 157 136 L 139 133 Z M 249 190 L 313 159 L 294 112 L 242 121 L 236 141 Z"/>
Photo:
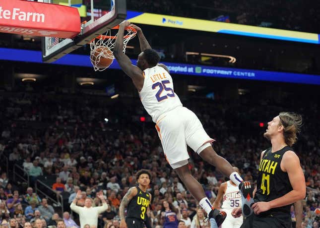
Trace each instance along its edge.
<path fill-rule="evenodd" d="M 92 51 L 90 59 L 98 68 L 107 68 L 113 62 L 113 53 L 108 47 L 98 46 Z"/>

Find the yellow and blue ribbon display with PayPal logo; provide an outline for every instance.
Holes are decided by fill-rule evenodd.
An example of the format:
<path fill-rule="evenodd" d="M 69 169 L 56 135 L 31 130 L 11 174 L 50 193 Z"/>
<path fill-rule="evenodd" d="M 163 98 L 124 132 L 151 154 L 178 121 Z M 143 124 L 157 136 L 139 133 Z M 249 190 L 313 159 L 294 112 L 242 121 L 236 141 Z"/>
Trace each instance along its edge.
<path fill-rule="evenodd" d="M 320 34 L 317 33 L 297 32 L 134 11 L 127 12 L 127 19 L 132 23 L 139 24 L 320 44 Z"/>

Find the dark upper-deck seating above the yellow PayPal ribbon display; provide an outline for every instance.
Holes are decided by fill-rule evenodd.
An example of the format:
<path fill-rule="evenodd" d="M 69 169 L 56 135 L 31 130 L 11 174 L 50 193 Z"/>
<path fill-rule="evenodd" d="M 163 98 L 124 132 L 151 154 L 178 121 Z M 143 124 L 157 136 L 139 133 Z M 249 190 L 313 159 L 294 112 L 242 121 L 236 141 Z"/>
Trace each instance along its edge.
<path fill-rule="evenodd" d="M 128 9 L 207 20 L 319 33 L 320 5 L 312 0 L 130 0 Z"/>

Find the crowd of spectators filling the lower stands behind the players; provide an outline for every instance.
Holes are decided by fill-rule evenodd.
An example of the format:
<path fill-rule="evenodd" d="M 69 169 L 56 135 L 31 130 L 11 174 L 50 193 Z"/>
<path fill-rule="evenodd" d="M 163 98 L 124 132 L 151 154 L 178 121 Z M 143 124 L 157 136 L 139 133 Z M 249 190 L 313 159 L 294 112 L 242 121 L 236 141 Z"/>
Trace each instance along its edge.
<path fill-rule="evenodd" d="M 108 103 L 103 97 L 66 96 L 40 93 L 0 95 L 2 161 L 8 158 L 9 175 L 4 162 L 0 177 L 0 227 L 78 228 L 76 214 L 70 216 L 68 206 L 80 190 L 77 206 L 84 206 L 87 197 L 92 205 L 101 206 L 103 193 L 108 209 L 100 214 L 98 227 L 119 228 L 119 206 L 128 188 L 136 185 L 135 172 L 151 171 L 149 191 L 152 194 L 149 218 L 152 226 L 163 225 L 163 202 L 172 203 L 181 211 L 181 220 L 188 228 L 197 228 L 203 211 L 186 190 L 163 156 L 154 124 L 133 121 L 143 108 L 135 100 Z M 207 133 L 217 140 L 216 151 L 241 170 L 242 177 L 253 183 L 260 152 L 269 146 L 262 137 L 265 128 L 256 122 L 267 122 L 283 110 L 303 114 L 304 127 L 294 146 L 300 157 L 308 186 L 304 201 L 304 224 L 311 228 L 319 219 L 320 203 L 320 129 L 317 103 L 295 100 L 279 105 L 240 99 L 237 103 L 189 99 L 184 105 L 194 111 Z M 108 117 L 109 122 L 104 119 Z M 256 126 L 256 125 L 257 126 Z M 190 151 L 190 169 L 203 185 L 208 198 L 214 201 L 225 178 L 219 171 L 202 162 Z M 12 167 L 19 166 L 30 175 L 30 183 L 13 181 Z M 47 199 L 36 194 L 37 179 L 53 177 L 52 193 Z M 47 182 L 48 183 L 48 182 Z M 98 195 L 97 195 L 98 194 Z M 60 201 L 60 198 L 66 202 Z M 56 200 L 57 199 L 57 200 Z M 61 204 L 64 204 L 64 213 Z M 292 214 L 295 220 L 294 213 Z M 201 227 L 209 227 L 201 224 Z"/>

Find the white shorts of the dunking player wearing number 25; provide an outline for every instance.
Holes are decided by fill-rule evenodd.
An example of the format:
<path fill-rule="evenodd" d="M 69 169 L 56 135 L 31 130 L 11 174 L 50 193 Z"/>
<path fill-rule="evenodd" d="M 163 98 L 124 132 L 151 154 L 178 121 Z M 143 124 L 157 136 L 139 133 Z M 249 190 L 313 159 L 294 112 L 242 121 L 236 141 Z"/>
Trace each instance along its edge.
<path fill-rule="evenodd" d="M 198 117 L 185 107 L 177 107 L 160 115 L 156 129 L 165 157 L 173 169 L 188 164 L 187 145 L 197 151 L 203 144 L 214 141 L 207 135 Z"/>

